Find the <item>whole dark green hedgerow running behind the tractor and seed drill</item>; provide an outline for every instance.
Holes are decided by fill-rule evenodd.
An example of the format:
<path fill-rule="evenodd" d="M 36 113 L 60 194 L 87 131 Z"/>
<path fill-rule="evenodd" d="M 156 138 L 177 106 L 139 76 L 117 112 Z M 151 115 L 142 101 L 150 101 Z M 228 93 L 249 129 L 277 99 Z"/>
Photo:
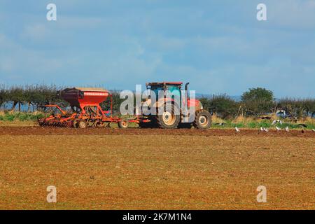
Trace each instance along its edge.
<path fill-rule="evenodd" d="M 56 85 L 0 85 L 0 106 L 10 111 L 21 111 L 24 106 L 26 111 L 41 110 L 45 104 L 59 104 L 69 106 L 61 99 L 57 92 L 63 87 Z M 113 110 L 118 112 L 120 103 L 119 91 L 111 91 L 113 94 Z M 241 100 L 232 99 L 227 94 L 216 94 L 211 97 L 201 97 L 205 109 L 221 118 L 235 118 L 237 116 L 263 116 L 276 111 L 286 111 L 287 116 L 297 118 L 315 116 L 315 99 L 274 99 L 271 90 L 257 87 L 249 89 L 241 95 Z M 102 104 L 109 109 L 109 99 Z"/>

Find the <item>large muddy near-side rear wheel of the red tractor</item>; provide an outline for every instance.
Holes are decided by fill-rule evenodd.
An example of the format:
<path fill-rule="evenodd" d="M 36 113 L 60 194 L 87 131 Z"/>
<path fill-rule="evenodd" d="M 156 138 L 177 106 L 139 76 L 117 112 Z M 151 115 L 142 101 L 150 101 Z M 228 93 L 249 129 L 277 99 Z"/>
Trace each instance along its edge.
<path fill-rule="evenodd" d="M 166 107 L 165 107 L 166 108 Z M 175 113 L 178 111 L 172 106 L 171 111 L 164 111 L 162 114 L 156 116 L 156 121 L 158 123 L 158 127 L 164 129 L 174 129 L 179 126 L 179 122 L 181 121 L 181 116 Z"/>

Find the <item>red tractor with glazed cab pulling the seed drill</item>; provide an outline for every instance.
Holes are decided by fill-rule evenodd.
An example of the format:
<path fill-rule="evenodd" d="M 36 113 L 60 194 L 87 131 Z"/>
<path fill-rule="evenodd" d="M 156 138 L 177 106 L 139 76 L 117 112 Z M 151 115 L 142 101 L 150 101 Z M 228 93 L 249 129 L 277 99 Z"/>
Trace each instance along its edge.
<path fill-rule="evenodd" d="M 211 127 L 211 114 L 203 109 L 202 103 L 197 99 L 190 99 L 188 96 L 188 85 L 185 85 L 185 93 L 181 90 L 183 83 L 146 83 L 150 94 L 148 99 L 143 102 L 142 107 L 146 106 L 155 113 L 144 114 L 139 121 L 140 127 L 161 127 L 165 129 L 190 128 L 194 126 L 198 129 L 209 129 Z M 160 97 L 160 92 L 170 92 L 173 97 Z M 153 100 L 152 98 L 155 97 Z M 166 94 L 167 95 L 167 94 Z M 176 96 L 178 100 L 175 100 Z M 167 103 L 172 105 L 167 109 Z M 160 109 L 160 107 L 162 109 Z M 188 112 L 187 112 L 188 111 Z M 193 112 L 191 112 L 193 111 Z M 192 114 L 195 118 L 191 118 Z"/>

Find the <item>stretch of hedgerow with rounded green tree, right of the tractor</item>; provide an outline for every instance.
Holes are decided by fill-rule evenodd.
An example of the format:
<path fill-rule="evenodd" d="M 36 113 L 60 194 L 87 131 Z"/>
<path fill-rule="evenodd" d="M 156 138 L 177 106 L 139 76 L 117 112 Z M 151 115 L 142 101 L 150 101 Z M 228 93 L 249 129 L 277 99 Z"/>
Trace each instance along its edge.
<path fill-rule="evenodd" d="M 315 117 L 315 99 L 282 98 L 275 99 L 271 90 L 251 88 L 236 101 L 226 94 L 217 94 L 200 99 L 205 109 L 221 118 L 237 116 L 261 117 L 269 113 L 283 113 L 294 118 Z"/>

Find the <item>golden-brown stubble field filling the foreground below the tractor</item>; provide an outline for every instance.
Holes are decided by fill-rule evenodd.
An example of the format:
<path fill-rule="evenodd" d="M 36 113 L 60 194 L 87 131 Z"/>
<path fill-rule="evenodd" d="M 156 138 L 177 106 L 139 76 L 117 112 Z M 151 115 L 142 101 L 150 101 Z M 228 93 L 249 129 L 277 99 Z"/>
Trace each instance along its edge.
<path fill-rule="evenodd" d="M 0 209 L 315 209 L 314 132 L 0 127 L 0 142 Z"/>

